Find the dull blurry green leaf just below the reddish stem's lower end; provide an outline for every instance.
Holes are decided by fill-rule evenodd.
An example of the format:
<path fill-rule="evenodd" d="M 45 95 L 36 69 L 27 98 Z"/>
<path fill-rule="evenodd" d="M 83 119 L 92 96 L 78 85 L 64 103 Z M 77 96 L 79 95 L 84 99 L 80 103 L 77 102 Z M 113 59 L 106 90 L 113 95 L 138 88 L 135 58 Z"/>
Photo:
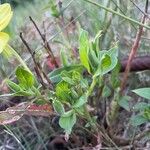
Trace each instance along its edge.
<path fill-rule="evenodd" d="M 119 105 L 123 107 L 125 110 L 130 111 L 129 101 L 131 100 L 130 96 L 123 96 L 119 100 Z"/>

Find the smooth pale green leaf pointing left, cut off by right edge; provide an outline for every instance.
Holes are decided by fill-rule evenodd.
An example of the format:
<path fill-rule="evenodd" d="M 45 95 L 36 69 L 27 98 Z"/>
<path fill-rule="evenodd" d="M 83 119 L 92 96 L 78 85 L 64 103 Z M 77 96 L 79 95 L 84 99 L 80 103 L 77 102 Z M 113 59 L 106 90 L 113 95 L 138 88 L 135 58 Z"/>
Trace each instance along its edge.
<path fill-rule="evenodd" d="M 136 93 L 137 95 L 143 98 L 150 100 L 150 88 L 140 88 L 133 90 L 132 92 Z"/>

